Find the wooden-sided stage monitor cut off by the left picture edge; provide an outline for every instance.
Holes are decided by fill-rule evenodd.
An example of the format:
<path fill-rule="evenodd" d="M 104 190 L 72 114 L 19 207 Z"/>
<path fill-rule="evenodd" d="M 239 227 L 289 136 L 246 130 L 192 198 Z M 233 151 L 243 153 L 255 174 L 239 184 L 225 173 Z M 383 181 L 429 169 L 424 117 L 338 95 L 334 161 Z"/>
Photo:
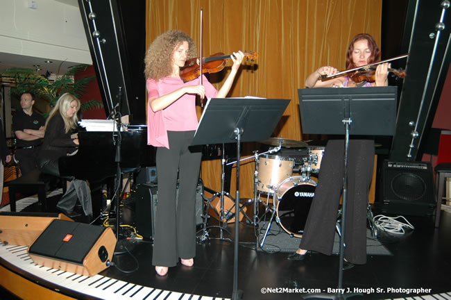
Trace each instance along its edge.
<path fill-rule="evenodd" d="M 30 246 L 54 219 L 72 221 L 62 213 L 0 213 L 0 241 Z"/>

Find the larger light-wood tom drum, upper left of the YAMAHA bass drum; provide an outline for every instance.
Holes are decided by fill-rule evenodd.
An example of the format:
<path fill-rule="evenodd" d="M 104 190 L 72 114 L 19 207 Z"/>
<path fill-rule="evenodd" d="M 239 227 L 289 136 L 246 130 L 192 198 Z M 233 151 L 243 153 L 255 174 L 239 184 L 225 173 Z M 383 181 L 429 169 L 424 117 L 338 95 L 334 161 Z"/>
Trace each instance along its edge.
<path fill-rule="evenodd" d="M 258 159 L 257 190 L 274 193 L 275 187 L 293 175 L 294 160 L 282 156 L 262 156 Z"/>

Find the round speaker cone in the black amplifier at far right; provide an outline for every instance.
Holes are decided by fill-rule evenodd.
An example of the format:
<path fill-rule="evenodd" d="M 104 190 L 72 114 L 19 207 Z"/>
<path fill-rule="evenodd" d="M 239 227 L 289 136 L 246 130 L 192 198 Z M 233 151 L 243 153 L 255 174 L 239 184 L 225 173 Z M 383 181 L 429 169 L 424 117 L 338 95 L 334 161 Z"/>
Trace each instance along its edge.
<path fill-rule="evenodd" d="M 401 173 L 391 180 L 391 190 L 396 197 L 406 201 L 418 201 L 425 197 L 426 183 L 417 174 Z"/>

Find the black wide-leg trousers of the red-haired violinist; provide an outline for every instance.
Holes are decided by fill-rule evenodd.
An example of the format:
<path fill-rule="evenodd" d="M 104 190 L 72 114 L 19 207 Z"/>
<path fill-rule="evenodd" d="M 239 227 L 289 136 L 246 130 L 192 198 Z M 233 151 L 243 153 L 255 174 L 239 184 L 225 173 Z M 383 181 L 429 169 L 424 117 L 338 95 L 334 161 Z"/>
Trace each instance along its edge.
<path fill-rule="evenodd" d="M 350 263 L 366 263 L 366 208 L 373 166 L 373 140 L 350 140 L 345 234 L 345 258 Z M 301 249 L 332 254 L 343 174 L 344 141 L 330 140 L 321 160 L 318 185 L 299 246 Z"/>

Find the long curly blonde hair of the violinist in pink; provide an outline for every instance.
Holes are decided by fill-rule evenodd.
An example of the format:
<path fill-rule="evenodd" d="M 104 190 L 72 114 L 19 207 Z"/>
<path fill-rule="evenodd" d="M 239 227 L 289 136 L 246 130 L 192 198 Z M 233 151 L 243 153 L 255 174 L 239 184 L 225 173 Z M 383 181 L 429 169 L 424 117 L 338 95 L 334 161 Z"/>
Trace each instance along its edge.
<path fill-rule="evenodd" d="M 189 35 L 178 29 L 172 29 L 158 35 L 148 47 L 144 63 L 146 78 L 158 81 L 172 73 L 172 58 L 176 47 L 183 42 L 188 42 L 189 50 L 187 59 L 196 57 L 196 44 Z"/>

